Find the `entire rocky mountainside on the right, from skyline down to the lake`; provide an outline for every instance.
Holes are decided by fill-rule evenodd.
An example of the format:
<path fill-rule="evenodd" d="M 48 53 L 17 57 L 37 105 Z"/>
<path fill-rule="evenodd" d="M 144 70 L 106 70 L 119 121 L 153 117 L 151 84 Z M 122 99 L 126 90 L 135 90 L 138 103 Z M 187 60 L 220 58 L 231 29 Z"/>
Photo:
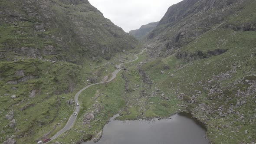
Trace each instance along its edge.
<path fill-rule="evenodd" d="M 255 143 L 255 31 L 255 0 L 184 0 L 148 34 L 152 86 L 181 100 L 213 144 Z"/>

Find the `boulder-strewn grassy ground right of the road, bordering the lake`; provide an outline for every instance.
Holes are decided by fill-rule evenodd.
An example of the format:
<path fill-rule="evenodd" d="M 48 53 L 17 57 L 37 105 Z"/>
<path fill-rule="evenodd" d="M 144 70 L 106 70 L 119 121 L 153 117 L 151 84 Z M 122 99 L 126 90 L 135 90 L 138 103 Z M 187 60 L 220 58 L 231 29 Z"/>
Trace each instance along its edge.
<path fill-rule="evenodd" d="M 206 124 L 211 143 L 251 144 L 256 138 L 256 56 L 247 48 L 189 63 L 176 54 L 151 59 L 146 52 L 126 64 L 113 82 L 83 92 L 84 112 L 56 141 L 98 141 L 117 113 L 119 120 L 135 120 L 190 111 Z"/>

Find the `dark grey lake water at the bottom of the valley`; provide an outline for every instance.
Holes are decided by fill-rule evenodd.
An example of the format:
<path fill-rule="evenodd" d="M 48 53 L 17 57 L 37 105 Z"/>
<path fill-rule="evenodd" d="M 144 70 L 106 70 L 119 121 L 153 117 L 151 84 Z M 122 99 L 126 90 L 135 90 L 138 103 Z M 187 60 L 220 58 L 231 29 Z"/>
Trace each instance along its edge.
<path fill-rule="evenodd" d="M 209 144 L 202 124 L 187 114 L 158 121 L 111 121 L 100 141 L 83 144 Z"/>

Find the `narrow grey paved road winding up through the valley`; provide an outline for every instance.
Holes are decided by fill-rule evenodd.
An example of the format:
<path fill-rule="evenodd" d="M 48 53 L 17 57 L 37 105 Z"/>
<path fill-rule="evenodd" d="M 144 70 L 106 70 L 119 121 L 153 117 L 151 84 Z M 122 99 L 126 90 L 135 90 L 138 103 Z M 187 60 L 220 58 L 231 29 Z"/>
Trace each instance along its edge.
<path fill-rule="evenodd" d="M 147 49 L 147 48 L 143 49 L 140 53 L 136 54 L 134 60 L 119 64 L 119 65 L 118 65 L 119 68 L 121 68 L 121 65 L 123 65 L 123 64 L 125 64 L 125 63 L 129 63 L 129 62 L 134 62 L 134 61 L 136 61 L 136 60 L 138 59 L 138 55 L 141 54 L 141 53 L 143 53 L 146 49 Z M 95 83 L 95 84 L 92 84 L 92 85 L 98 85 L 98 84 L 103 84 L 103 83 L 111 82 L 113 79 L 115 79 L 116 75 L 117 75 L 118 72 L 120 72 L 120 71 L 121 71 L 121 69 L 118 69 L 118 70 L 116 70 L 115 72 L 113 72 L 113 73 L 112 73 L 112 78 L 109 79 L 107 82 L 99 82 L 99 83 Z M 85 89 L 91 87 L 92 85 L 88 85 L 88 86 L 82 88 L 79 92 L 77 92 L 77 93 L 75 94 L 75 104 L 76 104 L 76 103 L 79 103 L 79 101 L 78 101 L 79 95 L 80 95 Z M 77 112 L 77 114 L 78 114 L 78 113 L 79 113 L 79 109 L 80 109 L 80 105 L 79 105 L 79 106 L 76 106 L 74 113 Z M 55 134 L 53 137 L 51 137 L 51 141 L 53 141 L 54 139 L 56 139 L 57 137 L 59 137 L 61 134 L 63 134 L 64 132 L 66 132 L 67 130 L 69 130 L 70 128 L 72 128 L 72 126 L 75 124 L 76 117 L 77 117 L 77 116 L 73 116 L 73 114 L 72 114 L 72 115 L 70 116 L 70 118 L 69 118 L 69 121 L 68 121 L 67 124 L 65 125 L 65 127 L 62 128 L 60 131 L 58 131 L 57 134 Z M 50 142 L 50 141 L 49 141 L 49 142 Z M 47 142 L 47 143 L 49 143 L 49 142 Z"/>

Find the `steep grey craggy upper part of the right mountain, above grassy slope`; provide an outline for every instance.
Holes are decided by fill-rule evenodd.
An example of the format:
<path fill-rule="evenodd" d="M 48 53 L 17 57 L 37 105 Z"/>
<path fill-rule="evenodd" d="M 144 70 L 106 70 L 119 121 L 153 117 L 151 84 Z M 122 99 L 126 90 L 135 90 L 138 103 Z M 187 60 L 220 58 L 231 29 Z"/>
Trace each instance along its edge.
<path fill-rule="evenodd" d="M 254 6 L 253 0 L 184 0 L 167 10 L 148 34 L 148 41 L 166 51 L 185 46 L 216 28 L 255 31 Z"/>

